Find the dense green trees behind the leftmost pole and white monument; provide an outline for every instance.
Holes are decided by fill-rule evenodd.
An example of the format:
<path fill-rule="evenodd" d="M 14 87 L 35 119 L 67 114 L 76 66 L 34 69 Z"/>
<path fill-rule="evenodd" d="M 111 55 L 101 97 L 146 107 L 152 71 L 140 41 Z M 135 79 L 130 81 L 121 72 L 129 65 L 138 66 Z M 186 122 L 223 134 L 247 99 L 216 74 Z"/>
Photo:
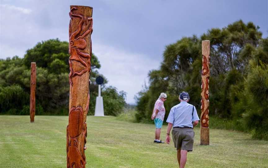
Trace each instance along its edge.
<path fill-rule="evenodd" d="M 69 112 L 69 52 L 68 42 L 51 39 L 38 42 L 23 58 L 14 56 L 0 60 L 0 114 L 29 115 L 30 66 L 36 62 L 36 115 L 68 115 Z M 91 59 L 89 115 L 94 115 L 101 64 L 96 55 Z M 102 75 L 103 76 L 103 75 Z M 104 76 L 103 76 L 104 77 Z M 102 86 L 105 115 L 122 112 L 126 93 Z"/>

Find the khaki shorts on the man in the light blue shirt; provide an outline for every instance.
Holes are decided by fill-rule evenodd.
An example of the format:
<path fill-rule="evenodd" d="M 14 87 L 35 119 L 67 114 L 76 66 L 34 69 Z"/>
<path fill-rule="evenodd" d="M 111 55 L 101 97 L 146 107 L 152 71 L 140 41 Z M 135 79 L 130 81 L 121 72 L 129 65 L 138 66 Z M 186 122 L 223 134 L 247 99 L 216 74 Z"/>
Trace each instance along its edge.
<path fill-rule="evenodd" d="M 173 128 L 172 138 L 175 148 L 193 151 L 194 129 L 192 128 Z"/>

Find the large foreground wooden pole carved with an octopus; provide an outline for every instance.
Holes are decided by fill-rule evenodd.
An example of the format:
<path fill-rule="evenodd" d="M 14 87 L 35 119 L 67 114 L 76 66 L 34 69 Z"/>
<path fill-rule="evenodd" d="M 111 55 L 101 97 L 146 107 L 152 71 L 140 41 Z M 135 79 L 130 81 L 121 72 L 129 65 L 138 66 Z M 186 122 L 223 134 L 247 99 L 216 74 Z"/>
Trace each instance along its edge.
<path fill-rule="evenodd" d="M 91 71 L 92 7 L 70 6 L 69 23 L 69 124 L 67 168 L 85 168 L 89 77 Z"/>

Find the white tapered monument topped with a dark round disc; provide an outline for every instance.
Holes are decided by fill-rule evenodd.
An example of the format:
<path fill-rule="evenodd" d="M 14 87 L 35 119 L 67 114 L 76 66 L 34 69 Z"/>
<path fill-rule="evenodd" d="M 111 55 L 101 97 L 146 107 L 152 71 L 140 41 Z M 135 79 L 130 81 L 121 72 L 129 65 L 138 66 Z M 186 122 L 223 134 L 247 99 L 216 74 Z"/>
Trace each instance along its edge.
<path fill-rule="evenodd" d="M 101 77 L 101 76 L 99 76 L 99 77 Z M 96 79 L 97 84 L 99 84 L 99 95 L 96 97 L 95 115 L 94 116 L 104 116 L 103 99 L 101 97 L 101 84 L 103 83 L 103 78 L 101 77 L 102 79 L 100 79 L 99 77 L 97 77 L 97 79 Z"/>

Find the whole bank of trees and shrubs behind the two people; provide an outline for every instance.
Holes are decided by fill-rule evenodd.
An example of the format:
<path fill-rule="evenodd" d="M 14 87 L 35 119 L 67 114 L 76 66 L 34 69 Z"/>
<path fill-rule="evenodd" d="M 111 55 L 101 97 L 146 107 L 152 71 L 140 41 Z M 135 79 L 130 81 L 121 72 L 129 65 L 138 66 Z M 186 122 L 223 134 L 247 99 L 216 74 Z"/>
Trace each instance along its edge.
<path fill-rule="evenodd" d="M 258 26 L 242 20 L 166 46 L 159 69 L 148 74 L 149 86 L 136 96 L 136 120 L 150 121 L 160 92 L 168 94 L 165 119 L 179 103 L 181 91 L 189 93 L 189 103 L 200 116 L 202 40 L 211 44 L 209 115 L 232 120 L 234 129 L 268 140 L 268 38 L 262 38 Z"/>

